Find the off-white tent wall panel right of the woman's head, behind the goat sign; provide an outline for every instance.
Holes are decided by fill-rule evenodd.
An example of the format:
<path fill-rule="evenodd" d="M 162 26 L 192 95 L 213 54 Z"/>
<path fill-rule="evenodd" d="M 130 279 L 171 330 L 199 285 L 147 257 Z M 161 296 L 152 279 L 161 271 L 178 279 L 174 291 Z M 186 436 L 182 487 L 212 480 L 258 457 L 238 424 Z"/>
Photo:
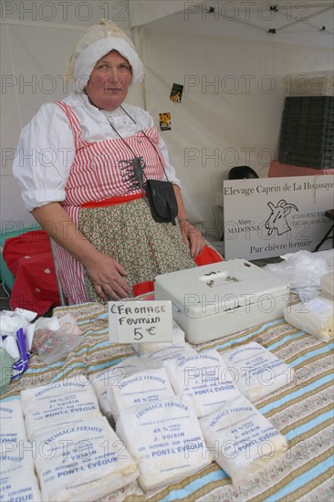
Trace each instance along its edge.
<path fill-rule="evenodd" d="M 287 75 L 332 68 L 332 51 L 146 29 L 147 109 L 171 112 L 162 131 L 191 219 L 219 235 L 215 199 L 235 165 L 266 177 L 277 158 Z M 183 85 L 181 103 L 170 99 Z"/>

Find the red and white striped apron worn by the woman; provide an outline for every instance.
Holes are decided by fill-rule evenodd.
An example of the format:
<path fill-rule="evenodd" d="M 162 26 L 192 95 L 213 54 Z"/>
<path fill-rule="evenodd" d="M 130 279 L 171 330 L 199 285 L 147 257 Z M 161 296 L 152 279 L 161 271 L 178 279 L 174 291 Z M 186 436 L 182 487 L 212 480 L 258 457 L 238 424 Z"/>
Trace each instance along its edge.
<path fill-rule="evenodd" d="M 76 225 L 80 206 L 83 204 L 141 193 L 141 189 L 131 188 L 131 182 L 124 179 L 120 170 L 120 161 L 133 159 L 130 148 L 136 156 L 142 156 L 145 160 L 144 173 L 147 178 L 162 179 L 162 163 L 141 131 L 124 137 L 130 148 L 121 139 L 88 142 L 82 138 L 75 112 L 64 102 L 58 101 L 56 104 L 67 115 L 75 141 L 76 155 L 68 176 L 66 199 L 60 204 Z M 144 132 L 159 151 L 159 133 L 156 128 L 151 127 Z M 163 162 L 162 154 L 160 157 Z M 82 265 L 61 246 L 54 246 L 54 255 L 57 274 L 68 303 L 89 301 Z"/>

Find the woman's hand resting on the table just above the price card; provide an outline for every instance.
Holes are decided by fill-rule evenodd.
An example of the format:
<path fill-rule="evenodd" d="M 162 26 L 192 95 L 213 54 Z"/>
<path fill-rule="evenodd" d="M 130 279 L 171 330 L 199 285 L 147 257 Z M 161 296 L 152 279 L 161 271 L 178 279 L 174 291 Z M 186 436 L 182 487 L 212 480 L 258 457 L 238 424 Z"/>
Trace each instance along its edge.
<path fill-rule="evenodd" d="M 131 288 L 124 278 L 128 274 L 118 261 L 96 251 L 83 266 L 100 298 L 108 301 L 107 295 L 116 300 L 129 297 Z"/>

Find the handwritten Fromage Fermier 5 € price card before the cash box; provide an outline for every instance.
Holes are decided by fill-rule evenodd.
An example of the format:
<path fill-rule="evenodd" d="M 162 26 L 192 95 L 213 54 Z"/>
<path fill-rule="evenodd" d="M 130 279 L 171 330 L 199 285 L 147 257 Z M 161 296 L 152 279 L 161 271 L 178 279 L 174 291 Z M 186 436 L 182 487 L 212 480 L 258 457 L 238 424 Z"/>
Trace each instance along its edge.
<path fill-rule="evenodd" d="M 110 343 L 172 342 L 172 302 L 110 301 Z"/>

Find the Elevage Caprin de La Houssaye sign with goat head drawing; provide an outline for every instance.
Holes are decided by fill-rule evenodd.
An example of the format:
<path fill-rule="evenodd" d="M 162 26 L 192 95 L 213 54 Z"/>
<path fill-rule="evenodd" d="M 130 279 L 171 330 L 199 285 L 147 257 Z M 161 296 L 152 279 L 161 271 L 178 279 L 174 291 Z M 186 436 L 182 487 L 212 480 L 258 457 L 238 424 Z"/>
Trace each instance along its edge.
<path fill-rule="evenodd" d="M 334 176 L 224 182 L 224 257 L 249 260 L 314 251 L 333 222 Z M 327 240 L 320 250 L 329 249 Z"/>

